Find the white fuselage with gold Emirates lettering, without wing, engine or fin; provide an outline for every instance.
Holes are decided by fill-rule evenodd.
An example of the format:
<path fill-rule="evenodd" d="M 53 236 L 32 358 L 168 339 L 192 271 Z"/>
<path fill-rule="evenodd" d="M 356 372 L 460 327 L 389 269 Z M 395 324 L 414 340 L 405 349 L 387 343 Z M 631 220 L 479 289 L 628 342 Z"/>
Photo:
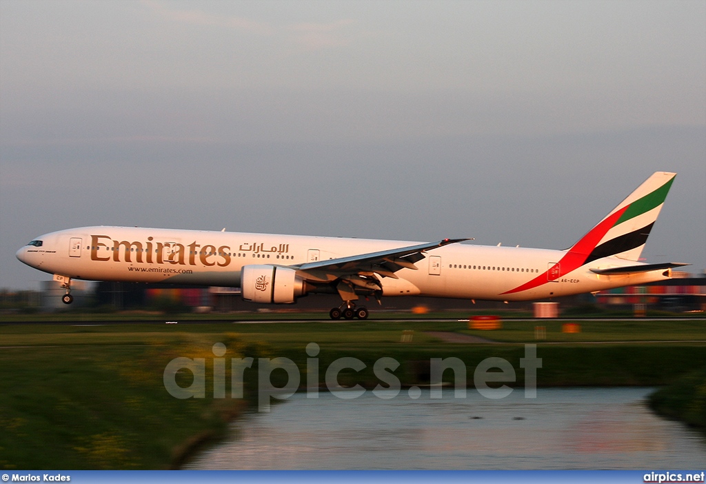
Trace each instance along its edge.
<path fill-rule="evenodd" d="M 417 243 L 114 226 L 56 231 L 37 240 L 41 246 L 25 246 L 17 257 L 50 274 L 97 281 L 233 287 L 240 286 L 245 265 L 299 265 Z M 383 277 L 383 296 L 527 301 L 669 279 L 663 270 L 621 275 L 591 272 L 635 265 L 614 257 L 594 260 L 553 278 L 550 269 L 566 255 L 563 250 L 451 244 L 424 255 L 415 263 L 417 270 L 403 268 L 395 274 L 399 279 Z M 532 287 L 527 288 L 530 282 Z M 517 291 L 520 286 L 527 289 Z"/>

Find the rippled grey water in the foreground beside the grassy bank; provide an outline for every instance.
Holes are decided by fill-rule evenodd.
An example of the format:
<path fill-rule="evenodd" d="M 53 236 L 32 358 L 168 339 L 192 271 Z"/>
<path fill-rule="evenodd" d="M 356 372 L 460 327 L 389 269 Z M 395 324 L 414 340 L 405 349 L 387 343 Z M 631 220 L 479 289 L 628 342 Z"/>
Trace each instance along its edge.
<path fill-rule="evenodd" d="M 208 469 L 691 468 L 706 442 L 654 416 L 647 388 L 516 390 L 502 400 L 296 394 L 233 425 L 189 465 Z"/>

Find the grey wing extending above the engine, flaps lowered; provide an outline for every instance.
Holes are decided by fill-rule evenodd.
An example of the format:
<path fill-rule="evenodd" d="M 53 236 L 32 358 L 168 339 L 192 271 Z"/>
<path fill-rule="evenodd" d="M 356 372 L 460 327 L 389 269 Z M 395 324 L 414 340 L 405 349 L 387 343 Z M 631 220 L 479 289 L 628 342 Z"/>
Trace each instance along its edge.
<path fill-rule="evenodd" d="M 424 252 L 427 250 L 467 240 L 472 239 L 445 238 L 443 241 L 420 243 L 417 246 L 337 259 L 317 260 L 289 267 L 296 269 L 297 274 L 311 282 L 333 283 L 337 281 L 335 287 L 344 301 L 357 299 L 356 289 L 362 289 L 366 294 L 372 291 L 377 297 L 382 289 L 378 276 L 399 279 L 395 272 L 403 268 L 417 270 L 414 263 L 424 259 Z"/>

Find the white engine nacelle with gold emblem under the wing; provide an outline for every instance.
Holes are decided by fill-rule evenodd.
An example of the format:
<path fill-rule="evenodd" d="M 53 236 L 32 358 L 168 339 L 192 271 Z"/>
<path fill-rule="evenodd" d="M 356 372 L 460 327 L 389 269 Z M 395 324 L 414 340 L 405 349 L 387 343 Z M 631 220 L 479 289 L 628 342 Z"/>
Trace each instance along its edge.
<path fill-rule="evenodd" d="M 240 280 L 243 299 L 253 303 L 294 303 L 307 289 L 296 270 L 275 265 L 246 265 Z"/>

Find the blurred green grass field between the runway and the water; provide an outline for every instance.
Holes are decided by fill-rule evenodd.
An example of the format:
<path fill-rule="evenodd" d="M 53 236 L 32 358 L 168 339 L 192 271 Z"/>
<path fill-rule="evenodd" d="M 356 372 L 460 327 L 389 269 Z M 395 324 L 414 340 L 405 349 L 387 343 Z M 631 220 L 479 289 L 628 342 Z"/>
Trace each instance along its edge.
<path fill-rule="evenodd" d="M 245 399 L 213 398 L 217 342 L 226 345 L 225 358 L 286 357 L 302 375 L 305 347 L 316 342 L 321 382 L 330 363 L 351 356 L 366 368 L 342 372 L 339 381 L 365 387 L 381 383 L 372 370 L 378 358 L 399 361 L 395 375 L 403 385 L 413 385 L 424 383 L 419 362 L 450 356 L 467 365 L 470 378 L 484 358 L 505 358 L 515 368 L 515 385 L 522 385 L 523 343 L 534 342 L 542 358 L 540 386 L 666 385 L 706 368 L 706 344 L 693 342 L 706 340 L 704 320 L 582 321 L 581 333 L 564 334 L 556 321 L 505 321 L 501 330 L 479 332 L 464 322 L 424 320 L 85 326 L 77 319 L 0 325 L 0 468 L 178 466 L 196 444 L 224 435 L 227 422 L 256 403 L 256 363 L 245 372 Z M 534 340 L 535 325 L 546 327 L 546 342 Z M 411 342 L 402 342 L 405 330 L 412 331 Z M 450 344 L 427 332 L 472 334 L 498 343 Z M 177 357 L 205 358 L 205 398 L 175 399 L 164 389 L 164 368 Z M 286 380 L 283 370 L 272 377 L 277 386 Z M 183 386 L 193 379 L 179 378 Z M 444 380 L 452 381 L 453 374 L 445 373 Z"/>

